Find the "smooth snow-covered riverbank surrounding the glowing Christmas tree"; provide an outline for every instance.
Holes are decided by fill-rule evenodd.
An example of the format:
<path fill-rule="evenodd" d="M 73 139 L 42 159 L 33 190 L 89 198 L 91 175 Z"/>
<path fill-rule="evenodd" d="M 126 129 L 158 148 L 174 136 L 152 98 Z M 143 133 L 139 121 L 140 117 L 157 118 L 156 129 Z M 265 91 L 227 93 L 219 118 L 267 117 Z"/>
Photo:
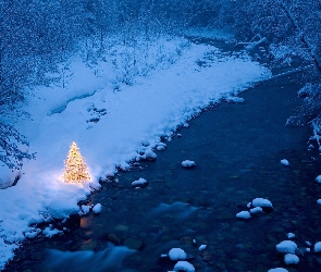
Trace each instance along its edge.
<path fill-rule="evenodd" d="M 137 73 L 131 85 L 119 81 L 116 88 L 118 71 L 110 62 L 92 70 L 74 57 L 65 88 L 33 92 L 25 109 L 30 120 L 16 127 L 28 138 L 36 159 L 24 162 L 15 186 L 0 190 L 0 269 L 24 239 L 41 235 L 44 230 L 30 224 L 78 213 L 77 202 L 99 187 L 99 178 L 113 175 L 118 168 L 128 169 L 133 160 L 155 156 L 152 148 L 161 136 L 171 136 L 210 102 L 271 76 L 245 54 L 226 57 L 214 47 L 193 44 L 176 49 L 176 54 L 169 53 L 176 59 L 170 58 L 168 65 Z M 209 61 L 208 54 L 214 58 Z M 200 66 L 202 61 L 207 65 Z M 84 187 L 61 180 L 72 141 L 94 177 Z M 54 232 L 49 226 L 42 234 Z"/>

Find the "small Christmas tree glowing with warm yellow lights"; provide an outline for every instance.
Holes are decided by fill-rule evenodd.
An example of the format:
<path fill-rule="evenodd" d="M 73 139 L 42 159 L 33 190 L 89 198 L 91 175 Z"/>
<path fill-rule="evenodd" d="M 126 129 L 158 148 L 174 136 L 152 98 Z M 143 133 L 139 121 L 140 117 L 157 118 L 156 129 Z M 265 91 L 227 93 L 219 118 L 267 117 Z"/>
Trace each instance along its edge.
<path fill-rule="evenodd" d="M 75 141 L 71 145 L 67 158 L 64 161 L 63 181 L 65 183 L 83 183 L 91 181 L 89 169 Z"/>

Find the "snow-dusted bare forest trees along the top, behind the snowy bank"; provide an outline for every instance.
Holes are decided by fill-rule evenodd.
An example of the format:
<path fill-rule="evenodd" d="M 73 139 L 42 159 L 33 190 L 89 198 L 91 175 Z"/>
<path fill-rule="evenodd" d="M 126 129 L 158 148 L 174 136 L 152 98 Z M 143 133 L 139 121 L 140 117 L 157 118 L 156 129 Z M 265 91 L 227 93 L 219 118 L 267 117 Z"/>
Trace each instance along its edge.
<path fill-rule="evenodd" d="M 137 37 L 202 26 L 227 29 L 242 41 L 266 37 L 271 48 L 288 48 L 281 61 L 296 54 L 321 71 L 320 14 L 320 0 L 1 0 L 0 160 L 13 168 L 30 158 L 9 120 L 23 114 L 20 107 L 34 86 L 63 81 L 59 63 L 75 52 L 89 62 L 112 42 L 132 46 Z"/>

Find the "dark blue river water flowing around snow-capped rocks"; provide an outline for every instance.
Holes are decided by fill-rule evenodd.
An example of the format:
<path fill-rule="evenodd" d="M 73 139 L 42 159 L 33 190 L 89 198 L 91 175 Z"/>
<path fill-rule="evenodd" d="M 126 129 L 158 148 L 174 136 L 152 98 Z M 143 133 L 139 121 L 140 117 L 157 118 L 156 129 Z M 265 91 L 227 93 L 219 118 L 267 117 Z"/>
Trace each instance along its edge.
<path fill-rule="evenodd" d="M 240 94 L 245 103 L 209 108 L 177 131 L 182 137 L 164 141 L 155 162 L 103 183 L 88 199 L 102 205 L 99 215 L 83 217 L 63 236 L 26 242 L 5 271 L 163 272 L 175 262 L 160 256 L 173 247 L 188 254 L 196 271 L 321 271 L 313 250 L 300 250 L 299 263 L 286 265 L 275 249 L 289 232 L 299 248 L 321 240 L 321 185 L 314 181 L 320 159 L 307 143 L 312 132 L 285 126 L 301 103 L 301 76 L 256 86 Z M 196 168 L 183 169 L 186 159 Z M 133 189 L 139 177 L 148 186 Z M 274 210 L 237 220 L 257 197 Z"/>

